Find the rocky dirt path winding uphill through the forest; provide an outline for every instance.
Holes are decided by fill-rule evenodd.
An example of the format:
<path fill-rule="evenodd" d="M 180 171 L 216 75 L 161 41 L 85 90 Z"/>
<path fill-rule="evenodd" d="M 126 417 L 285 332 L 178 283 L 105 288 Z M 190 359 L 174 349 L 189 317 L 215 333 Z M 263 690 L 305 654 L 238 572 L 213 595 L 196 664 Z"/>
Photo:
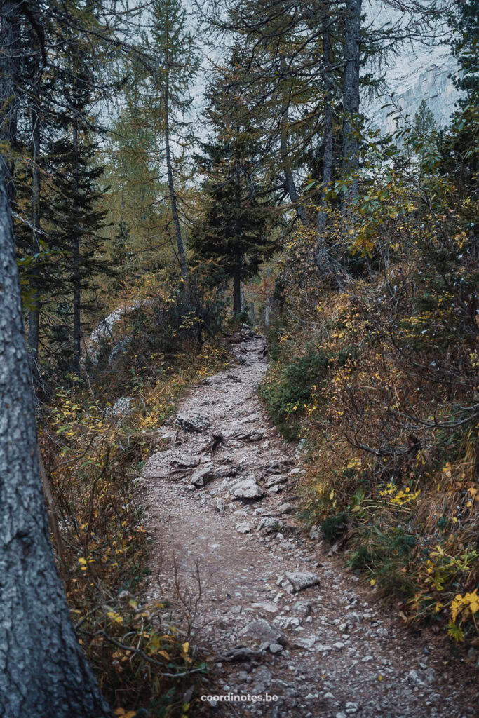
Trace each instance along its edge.
<path fill-rule="evenodd" d="M 300 530 L 300 458 L 256 393 L 266 343 L 244 331 L 243 338 L 241 365 L 192 389 L 180 407 L 177 421 L 201 430 L 170 427 L 167 449 L 143 472 L 157 546 L 152 596 L 172 595 L 175 562 L 197 640 L 217 659 L 215 688 L 205 693 L 231 697 L 208 710 L 271 718 L 474 715 L 472 675 L 461 679 L 434 642 L 371 605 L 373 593 Z M 205 486 L 195 488 L 192 478 Z M 266 703 L 266 694 L 276 700 Z"/>

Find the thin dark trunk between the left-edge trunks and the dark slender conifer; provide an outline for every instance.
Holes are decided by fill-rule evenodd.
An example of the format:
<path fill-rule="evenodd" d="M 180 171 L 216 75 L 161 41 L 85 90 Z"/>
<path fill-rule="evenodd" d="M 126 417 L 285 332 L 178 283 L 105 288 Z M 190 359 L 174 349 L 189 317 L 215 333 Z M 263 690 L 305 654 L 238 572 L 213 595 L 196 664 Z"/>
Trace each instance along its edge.
<path fill-rule="evenodd" d="M 40 228 L 40 119 L 38 113 L 38 94 L 34 98 L 32 104 L 32 249 L 34 255 L 40 249 L 39 245 L 39 228 Z M 28 345 L 30 350 L 30 358 L 32 360 L 32 376 L 37 379 L 38 374 L 38 340 L 39 340 L 39 269 L 38 265 L 34 267 L 31 280 L 33 296 L 32 309 L 28 315 Z"/>

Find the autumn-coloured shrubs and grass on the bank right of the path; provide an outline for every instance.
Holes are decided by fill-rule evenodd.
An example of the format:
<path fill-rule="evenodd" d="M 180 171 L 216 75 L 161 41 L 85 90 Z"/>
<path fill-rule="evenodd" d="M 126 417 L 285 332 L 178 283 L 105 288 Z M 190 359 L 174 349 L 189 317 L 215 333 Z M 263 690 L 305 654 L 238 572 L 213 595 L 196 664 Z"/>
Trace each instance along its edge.
<path fill-rule="evenodd" d="M 305 439 L 307 523 L 406 623 L 478 643 L 473 202 L 450 209 L 455 187 L 444 182 L 439 221 L 393 179 L 381 180 L 373 211 L 366 197 L 352 230 L 362 274 L 341 264 L 350 240 L 334 213 L 326 266 L 314 231 L 289 242 L 260 396 L 284 437 Z"/>

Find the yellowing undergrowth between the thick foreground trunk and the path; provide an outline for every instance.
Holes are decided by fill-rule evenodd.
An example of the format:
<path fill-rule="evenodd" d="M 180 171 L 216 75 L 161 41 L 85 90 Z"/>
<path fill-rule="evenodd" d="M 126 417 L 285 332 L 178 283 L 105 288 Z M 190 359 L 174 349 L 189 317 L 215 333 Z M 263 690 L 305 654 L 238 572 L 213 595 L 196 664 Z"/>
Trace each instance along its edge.
<path fill-rule="evenodd" d="M 185 388 L 225 368 L 230 354 L 213 342 L 193 350 L 187 337 L 161 351 L 156 320 L 141 312 L 141 332 L 137 325 L 113 366 L 106 361 L 57 390 L 42 409 L 39 445 L 59 571 L 103 694 L 118 715 L 176 718 L 193 710 L 188 696 L 207 673 L 192 640 L 200 585 L 187 596 L 175 582 L 175 595 L 146 604 L 150 544 L 135 477 L 161 448 L 159 430 Z M 129 411 L 113 414 L 114 399 L 125 395 Z"/>

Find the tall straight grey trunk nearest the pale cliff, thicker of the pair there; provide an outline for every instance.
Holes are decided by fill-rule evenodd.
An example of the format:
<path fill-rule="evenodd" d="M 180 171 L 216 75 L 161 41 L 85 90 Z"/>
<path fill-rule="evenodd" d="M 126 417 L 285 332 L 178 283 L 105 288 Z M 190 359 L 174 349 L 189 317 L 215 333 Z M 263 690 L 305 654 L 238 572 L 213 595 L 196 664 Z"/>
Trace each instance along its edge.
<path fill-rule="evenodd" d="M 361 38 L 361 2 L 346 0 L 345 73 L 343 88 L 343 175 L 355 175 L 343 200 L 343 214 L 358 197 L 359 141 L 356 117 L 359 113 L 359 41 Z"/>

